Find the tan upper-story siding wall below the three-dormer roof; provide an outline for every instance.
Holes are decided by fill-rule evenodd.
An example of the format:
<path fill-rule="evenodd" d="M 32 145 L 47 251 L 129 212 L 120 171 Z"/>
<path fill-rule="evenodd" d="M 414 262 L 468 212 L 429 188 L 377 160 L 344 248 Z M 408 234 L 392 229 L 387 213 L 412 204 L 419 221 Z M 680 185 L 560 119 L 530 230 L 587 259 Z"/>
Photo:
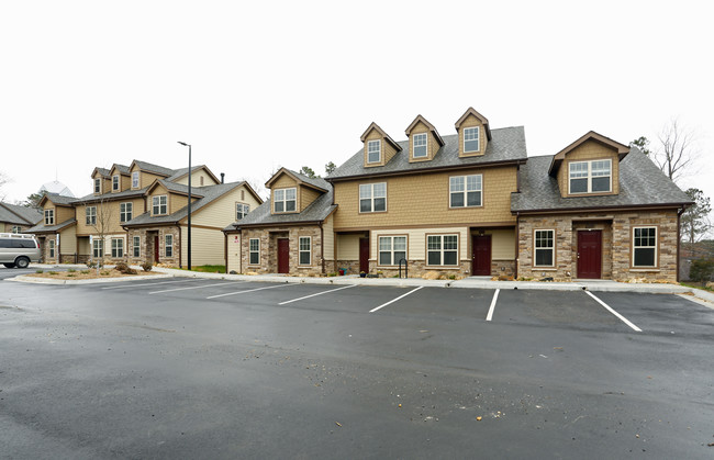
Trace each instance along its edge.
<path fill-rule="evenodd" d="M 483 175 L 483 206 L 449 209 L 449 177 Z M 359 213 L 359 184 L 387 182 L 387 212 Z M 515 223 L 511 192 L 516 190 L 515 167 L 465 169 L 335 183 L 335 229 L 444 225 L 464 223 Z"/>

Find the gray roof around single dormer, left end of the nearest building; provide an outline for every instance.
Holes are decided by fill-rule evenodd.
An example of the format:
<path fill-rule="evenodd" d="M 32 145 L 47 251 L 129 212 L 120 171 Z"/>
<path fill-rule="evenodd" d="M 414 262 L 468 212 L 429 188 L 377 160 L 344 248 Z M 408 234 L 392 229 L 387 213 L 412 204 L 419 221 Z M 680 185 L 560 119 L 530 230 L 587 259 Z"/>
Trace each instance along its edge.
<path fill-rule="evenodd" d="M 290 171 L 292 172 L 292 171 Z M 301 178 L 302 179 L 302 178 Z M 328 192 L 321 194 L 310 203 L 300 213 L 294 214 L 270 214 L 270 203 L 268 200 L 256 207 L 254 211 L 249 212 L 248 215 L 243 217 L 241 221 L 237 221 L 227 227 L 224 231 L 235 231 L 235 227 L 248 227 L 254 225 L 285 225 L 285 224 L 298 224 L 301 222 L 322 222 L 332 212 L 337 209 L 336 204 L 332 204 L 333 200 L 333 189 L 330 183 L 326 183 L 326 189 Z"/>

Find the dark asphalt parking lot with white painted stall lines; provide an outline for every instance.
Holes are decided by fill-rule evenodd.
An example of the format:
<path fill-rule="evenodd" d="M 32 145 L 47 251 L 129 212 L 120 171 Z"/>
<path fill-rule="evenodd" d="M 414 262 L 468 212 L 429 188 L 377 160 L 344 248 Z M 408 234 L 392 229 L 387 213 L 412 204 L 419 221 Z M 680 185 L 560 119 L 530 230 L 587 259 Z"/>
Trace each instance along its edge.
<path fill-rule="evenodd" d="M 682 296 L 0 282 L 10 457 L 711 458 Z"/>

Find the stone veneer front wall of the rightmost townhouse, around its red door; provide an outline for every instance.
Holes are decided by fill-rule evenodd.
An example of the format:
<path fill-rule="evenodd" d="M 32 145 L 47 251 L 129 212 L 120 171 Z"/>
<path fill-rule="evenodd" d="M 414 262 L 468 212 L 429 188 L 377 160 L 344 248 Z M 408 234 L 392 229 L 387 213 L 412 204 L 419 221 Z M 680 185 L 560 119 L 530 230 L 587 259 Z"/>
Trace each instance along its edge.
<path fill-rule="evenodd" d="M 573 218 L 576 220 L 573 222 Z M 596 222 L 583 222 L 591 218 Z M 612 224 L 610 224 L 612 222 Z M 610 228 L 607 226 L 611 225 Z M 632 244 L 634 226 L 657 226 L 658 266 L 633 268 Z M 677 280 L 677 211 L 613 212 L 521 216 L 518 220 L 518 277 L 547 277 L 570 280 L 577 276 L 578 228 L 603 229 L 603 279 L 626 281 L 629 279 Z M 533 231 L 556 231 L 556 263 L 553 269 L 533 267 Z M 570 272 L 570 276 L 568 274 Z"/>

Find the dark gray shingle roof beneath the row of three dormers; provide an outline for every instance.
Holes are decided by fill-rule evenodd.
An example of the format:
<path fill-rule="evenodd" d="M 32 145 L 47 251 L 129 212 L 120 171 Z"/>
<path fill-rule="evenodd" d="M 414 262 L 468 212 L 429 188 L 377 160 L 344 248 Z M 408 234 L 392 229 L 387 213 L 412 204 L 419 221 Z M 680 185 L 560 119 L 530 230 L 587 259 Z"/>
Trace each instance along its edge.
<path fill-rule="evenodd" d="M 398 144 L 402 150 L 397 153 L 384 166 L 365 168 L 364 150 L 359 149 L 352 158 L 327 176 L 327 180 L 348 178 L 353 176 L 378 176 L 400 171 L 420 171 L 433 168 L 450 168 L 458 166 L 479 166 L 495 161 L 524 160 L 527 158 L 525 132 L 523 126 L 502 127 L 491 131 L 492 138 L 481 156 L 459 158 L 458 134 L 443 136 L 444 146 L 438 149 L 431 161 L 409 162 L 409 141 Z"/>

